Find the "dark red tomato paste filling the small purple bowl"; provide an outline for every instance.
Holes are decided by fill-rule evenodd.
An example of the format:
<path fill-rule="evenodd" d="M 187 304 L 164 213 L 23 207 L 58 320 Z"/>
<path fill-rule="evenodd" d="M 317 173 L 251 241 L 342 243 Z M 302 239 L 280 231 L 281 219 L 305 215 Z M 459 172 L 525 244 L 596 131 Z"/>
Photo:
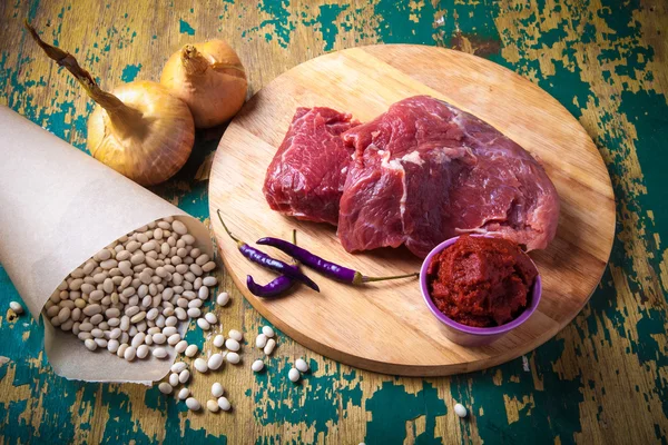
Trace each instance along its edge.
<path fill-rule="evenodd" d="M 468 235 L 435 255 L 428 268 L 436 307 L 474 327 L 500 326 L 517 318 L 528 305 L 537 276 L 536 266 L 517 244 Z"/>

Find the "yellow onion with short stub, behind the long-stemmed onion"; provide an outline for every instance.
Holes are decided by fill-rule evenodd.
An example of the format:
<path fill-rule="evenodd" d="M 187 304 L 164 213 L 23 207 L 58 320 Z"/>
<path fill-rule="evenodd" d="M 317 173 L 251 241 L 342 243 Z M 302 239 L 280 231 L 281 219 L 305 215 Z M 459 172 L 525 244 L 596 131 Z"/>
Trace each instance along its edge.
<path fill-rule="evenodd" d="M 160 83 L 188 105 L 197 128 L 232 119 L 244 105 L 248 88 L 242 61 L 222 40 L 186 44 L 171 55 Z"/>

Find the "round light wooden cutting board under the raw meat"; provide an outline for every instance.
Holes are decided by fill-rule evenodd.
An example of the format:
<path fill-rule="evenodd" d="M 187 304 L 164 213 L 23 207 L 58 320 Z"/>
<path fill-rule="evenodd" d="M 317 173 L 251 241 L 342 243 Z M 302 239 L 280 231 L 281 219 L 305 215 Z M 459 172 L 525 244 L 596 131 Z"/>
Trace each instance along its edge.
<path fill-rule="evenodd" d="M 366 275 L 420 269 L 406 249 L 347 254 L 335 228 L 272 211 L 262 186 L 297 107 L 331 107 L 367 121 L 404 98 L 430 95 L 469 111 L 509 136 L 544 166 L 561 197 L 557 238 L 532 251 L 543 279 L 538 310 L 490 346 L 449 342 L 429 312 L 416 279 L 353 287 L 312 270 L 321 293 L 298 286 L 276 299 L 246 288 L 275 275 L 250 264 L 216 217 L 242 239 L 289 239 Z M 372 46 L 328 53 L 302 63 L 257 92 L 229 125 L 209 184 L 212 225 L 227 270 L 250 304 L 298 343 L 343 363 L 386 374 L 433 376 L 482 369 L 515 358 L 554 336 L 582 308 L 599 283 L 615 236 L 615 198 L 596 146 L 550 95 L 488 60 L 422 46 Z M 266 246 L 263 250 L 285 260 Z M 281 346 L 277 348 L 281 354 Z"/>

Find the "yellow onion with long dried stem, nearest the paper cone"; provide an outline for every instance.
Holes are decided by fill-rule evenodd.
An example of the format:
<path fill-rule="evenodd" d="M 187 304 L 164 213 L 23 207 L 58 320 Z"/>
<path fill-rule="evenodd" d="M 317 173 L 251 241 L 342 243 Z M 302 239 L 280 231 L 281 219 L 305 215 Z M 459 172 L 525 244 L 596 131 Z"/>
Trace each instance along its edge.
<path fill-rule="evenodd" d="M 65 67 L 98 106 L 88 119 L 88 150 L 94 158 L 143 185 L 174 176 L 186 164 L 195 126 L 188 106 L 164 86 L 135 81 L 102 91 L 68 52 L 43 42 L 26 22 L 49 58 Z"/>

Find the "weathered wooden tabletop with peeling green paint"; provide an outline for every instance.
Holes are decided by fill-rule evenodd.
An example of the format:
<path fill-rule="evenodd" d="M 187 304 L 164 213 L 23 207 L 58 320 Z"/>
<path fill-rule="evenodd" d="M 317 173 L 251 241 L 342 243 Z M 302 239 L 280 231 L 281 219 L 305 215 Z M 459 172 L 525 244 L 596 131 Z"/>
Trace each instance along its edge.
<path fill-rule="evenodd" d="M 591 135 L 617 198 L 607 273 L 573 323 L 503 366 L 396 378 L 337 364 L 279 335 L 268 373 L 254 375 L 244 366 L 195 378 L 190 386 L 202 397 L 220 380 L 234 411 L 194 415 L 157 387 L 55 375 L 43 354 L 43 328 L 7 308 L 19 296 L 0 268 L 0 444 L 668 442 L 666 1 L 195 3 L 0 2 L 0 103 L 84 149 L 92 102 L 38 51 L 21 29 L 23 18 L 76 53 L 107 88 L 156 80 L 169 53 L 209 38 L 237 49 L 250 92 L 331 50 L 377 42 L 456 48 L 538 83 Z M 187 166 L 155 189 L 206 222 L 206 166 L 220 134 L 198 134 Z M 218 277 L 233 294 L 220 313 L 226 329 L 256 333 L 262 317 L 224 271 Z M 196 329 L 187 339 L 213 347 Z M 298 356 L 313 372 L 294 386 L 285 374 Z M 455 402 L 470 408 L 470 418 L 454 415 Z"/>

